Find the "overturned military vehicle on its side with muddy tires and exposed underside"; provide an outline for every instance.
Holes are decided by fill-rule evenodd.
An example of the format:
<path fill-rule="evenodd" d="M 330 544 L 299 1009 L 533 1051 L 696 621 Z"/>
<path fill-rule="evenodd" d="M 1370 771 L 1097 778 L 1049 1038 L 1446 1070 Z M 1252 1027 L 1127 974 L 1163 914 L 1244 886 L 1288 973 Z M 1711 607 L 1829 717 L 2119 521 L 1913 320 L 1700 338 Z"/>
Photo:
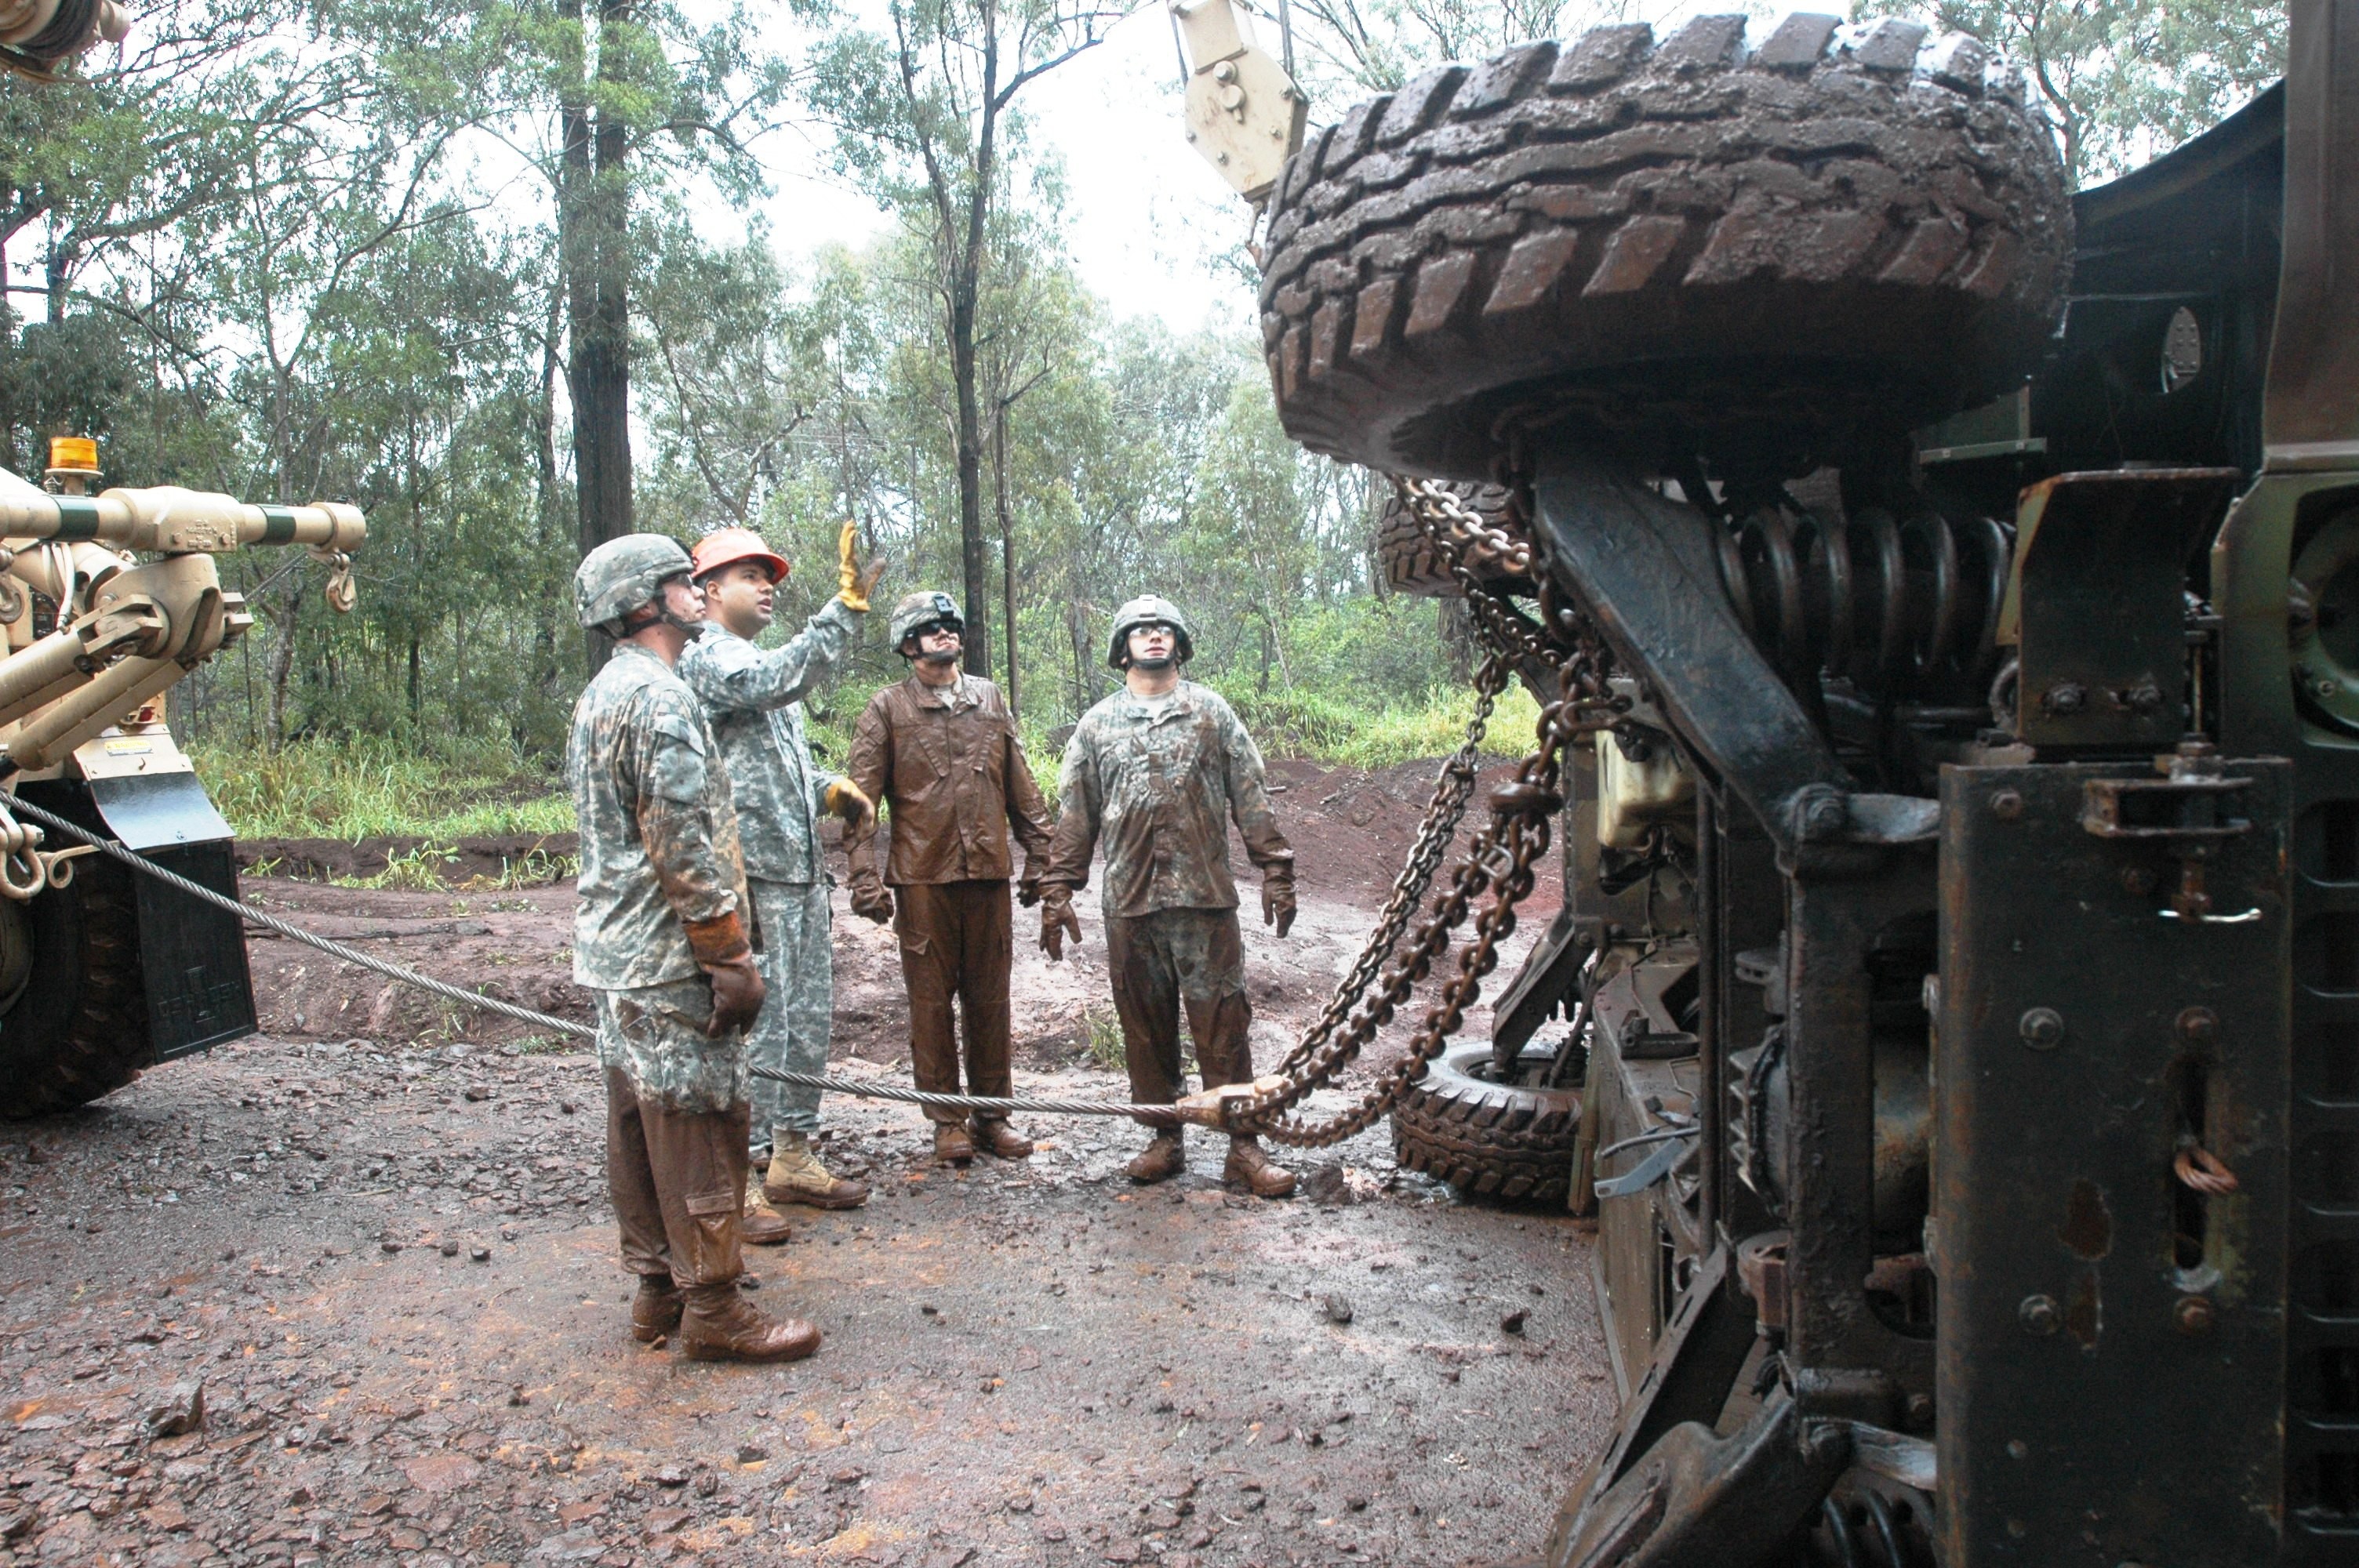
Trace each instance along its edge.
<path fill-rule="evenodd" d="M 1274 189 L 1286 427 L 1571 785 L 1448 1056 L 1585 1087 L 1460 1127 L 1599 1214 L 1552 1566 L 2359 1556 L 2359 0 L 2291 61 L 2074 198 L 1970 38 L 1616 26 Z"/>

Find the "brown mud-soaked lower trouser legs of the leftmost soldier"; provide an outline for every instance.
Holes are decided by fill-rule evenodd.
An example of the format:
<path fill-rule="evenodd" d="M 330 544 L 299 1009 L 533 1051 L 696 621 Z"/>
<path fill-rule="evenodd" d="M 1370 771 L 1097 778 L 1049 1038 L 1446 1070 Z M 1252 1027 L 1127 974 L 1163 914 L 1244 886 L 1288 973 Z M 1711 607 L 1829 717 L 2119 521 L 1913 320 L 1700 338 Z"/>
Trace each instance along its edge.
<path fill-rule="evenodd" d="M 672 1111 L 606 1068 L 606 1191 L 623 1231 L 623 1266 L 670 1273 L 682 1287 L 727 1285 L 743 1271 L 745 1106 Z"/>

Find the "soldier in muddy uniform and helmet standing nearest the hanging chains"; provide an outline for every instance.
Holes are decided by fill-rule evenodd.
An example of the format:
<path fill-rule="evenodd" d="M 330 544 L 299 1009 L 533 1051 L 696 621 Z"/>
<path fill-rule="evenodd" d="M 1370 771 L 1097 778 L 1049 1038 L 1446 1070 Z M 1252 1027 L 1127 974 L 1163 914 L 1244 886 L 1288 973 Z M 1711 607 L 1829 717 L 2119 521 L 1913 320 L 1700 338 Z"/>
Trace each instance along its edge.
<path fill-rule="evenodd" d="M 1180 679 L 1191 653 L 1172 601 L 1149 594 L 1113 613 L 1106 663 L 1123 672 L 1123 691 L 1083 714 L 1064 747 L 1057 842 L 1040 875 L 1040 948 L 1057 962 L 1066 936 L 1080 941 L 1073 889 L 1090 882 L 1090 856 L 1104 844 L 1106 969 L 1130 1099 L 1142 1106 L 1180 1094 L 1182 1009 L 1203 1087 L 1253 1080 L 1229 818 L 1262 870 L 1262 924 L 1286 936 L 1295 922 L 1295 851 L 1269 813 L 1262 752 L 1217 691 Z M 1130 1179 L 1182 1170 L 1180 1129 L 1168 1129 L 1130 1162 Z M 1295 1191 L 1293 1172 L 1250 1134 L 1229 1139 L 1222 1177 L 1262 1198 Z"/>

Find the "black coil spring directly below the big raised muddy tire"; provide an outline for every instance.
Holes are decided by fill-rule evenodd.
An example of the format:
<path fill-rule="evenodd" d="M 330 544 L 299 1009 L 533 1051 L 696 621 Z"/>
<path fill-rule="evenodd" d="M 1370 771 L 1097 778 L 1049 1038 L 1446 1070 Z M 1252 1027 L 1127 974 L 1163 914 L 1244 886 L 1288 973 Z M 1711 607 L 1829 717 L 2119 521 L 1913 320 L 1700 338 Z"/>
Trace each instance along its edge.
<path fill-rule="evenodd" d="M 1821 674 L 1875 700 L 1989 686 L 2015 559 L 1998 521 L 1868 507 L 1838 523 L 1776 502 L 1724 523 L 1717 547 L 1736 620 L 1805 698 Z"/>

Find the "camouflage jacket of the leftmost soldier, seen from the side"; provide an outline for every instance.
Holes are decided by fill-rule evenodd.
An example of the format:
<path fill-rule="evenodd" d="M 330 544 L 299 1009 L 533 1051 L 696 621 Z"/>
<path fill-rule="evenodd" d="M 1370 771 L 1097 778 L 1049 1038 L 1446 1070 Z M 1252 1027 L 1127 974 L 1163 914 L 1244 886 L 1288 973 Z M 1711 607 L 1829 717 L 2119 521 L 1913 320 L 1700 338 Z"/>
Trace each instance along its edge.
<path fill-rule="evenodd" d="M 580 825 L 573 981 L 635 990 L 701 974 L 684 920 L 745 910 L 729 773 L 696 696 L 618 644 L 573 705 L 566 783 Z"/>

